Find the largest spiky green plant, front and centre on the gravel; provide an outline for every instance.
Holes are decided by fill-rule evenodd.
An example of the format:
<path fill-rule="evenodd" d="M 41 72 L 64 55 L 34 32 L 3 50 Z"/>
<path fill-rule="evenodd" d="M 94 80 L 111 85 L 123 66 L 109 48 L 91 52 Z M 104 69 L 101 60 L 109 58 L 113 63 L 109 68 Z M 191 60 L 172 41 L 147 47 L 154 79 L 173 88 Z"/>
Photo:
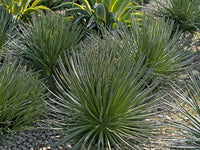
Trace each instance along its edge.
<path fill-rule="evenodd" d="M 132 45 L 115 35 L 90 38 L 82 50 L 59 60 L 56 83 L 58 99 L 49 109 L 60 119 L 73 149 L 142 149 L 152 137 L 155 84 L 146 87 L 151 71 L 143 59 L 132 62 Z"/>

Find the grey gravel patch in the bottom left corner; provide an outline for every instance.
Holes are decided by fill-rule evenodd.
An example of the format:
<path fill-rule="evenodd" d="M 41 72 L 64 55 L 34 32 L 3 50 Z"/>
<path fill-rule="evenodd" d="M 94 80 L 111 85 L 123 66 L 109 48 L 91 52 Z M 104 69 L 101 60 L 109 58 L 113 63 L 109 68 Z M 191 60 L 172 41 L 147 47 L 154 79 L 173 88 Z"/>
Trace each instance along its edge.
<path fill-rule="evenodd" d="M 0 141 L 0 150 L 69 150 L 70 145 L 55 146 L 59 135 L 53 130 L 32 130 L 6 135 L 7 145 Z"/>

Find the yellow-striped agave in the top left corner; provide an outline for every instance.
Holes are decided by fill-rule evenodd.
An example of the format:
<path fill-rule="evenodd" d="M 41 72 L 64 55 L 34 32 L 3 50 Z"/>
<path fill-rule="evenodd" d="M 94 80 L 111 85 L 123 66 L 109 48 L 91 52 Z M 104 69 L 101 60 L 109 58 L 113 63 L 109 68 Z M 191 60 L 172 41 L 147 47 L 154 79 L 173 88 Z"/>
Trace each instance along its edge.
<path fill-rule="evenodd" d="M 42 0 L 0 0 L 0 4 L 7 8 L 14 19 L 21 19 L 41 10 L 50 10 L 48 7 L 40 5 L 41 2 Z"/>

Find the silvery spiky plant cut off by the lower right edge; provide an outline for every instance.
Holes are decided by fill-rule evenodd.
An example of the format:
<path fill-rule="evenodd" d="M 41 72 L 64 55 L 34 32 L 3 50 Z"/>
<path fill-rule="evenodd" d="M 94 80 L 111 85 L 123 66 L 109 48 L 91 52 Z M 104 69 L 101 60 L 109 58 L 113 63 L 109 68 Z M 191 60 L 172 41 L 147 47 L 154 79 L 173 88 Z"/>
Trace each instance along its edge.
<path fill-rule="evenodd" d="M 170 146 L 184 149 L 200 148 L 200 76 L 194 76 L 188 73 L 189 81 L 184 82 L 180 87 L 172 84 L 173 91 L 169 94 L 175 101 L 169 103 L 169 106 L 176 111 L 178 119 L 169 120 L 171 127 L 178 130 L 173 131 L 178 138 L 173 139 Z M 179 115 L 178 115 L 179 114 Z"/>

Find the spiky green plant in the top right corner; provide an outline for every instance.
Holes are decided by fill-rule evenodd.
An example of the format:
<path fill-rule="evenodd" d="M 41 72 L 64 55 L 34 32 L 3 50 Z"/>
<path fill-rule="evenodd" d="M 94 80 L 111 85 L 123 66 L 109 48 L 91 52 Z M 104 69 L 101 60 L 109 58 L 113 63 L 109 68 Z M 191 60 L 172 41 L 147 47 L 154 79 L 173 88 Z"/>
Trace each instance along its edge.
<path fill-rule="evenodd" d="M 194 33 L 200 27 L 200 1 L 199 0 L 166 0 L 157 1 L 157 16 L 174 20 L 174 30 Z"/>

